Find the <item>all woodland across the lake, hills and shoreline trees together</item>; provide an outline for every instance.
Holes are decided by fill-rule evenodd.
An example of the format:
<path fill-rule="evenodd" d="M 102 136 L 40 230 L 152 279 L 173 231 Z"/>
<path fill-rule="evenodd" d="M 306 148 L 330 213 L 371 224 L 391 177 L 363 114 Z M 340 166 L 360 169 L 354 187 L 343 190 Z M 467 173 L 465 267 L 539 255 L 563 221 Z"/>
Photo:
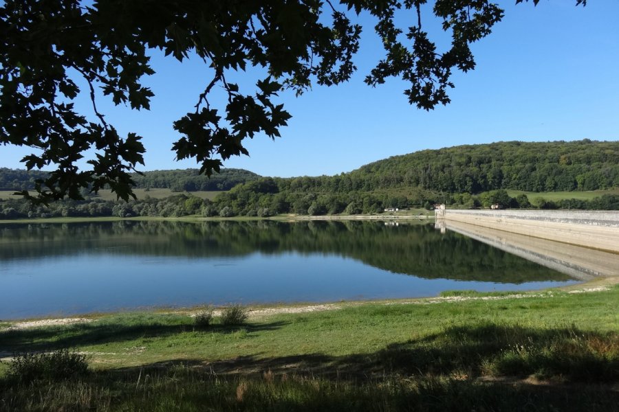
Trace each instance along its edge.
<path fill-rule="evenodd" d="M 36 173 L 0 169 L 0 185 L 29 188 Z M 518 141 L 422 150 L 396 156 L 337 176 L 261 177 L 225 169 L 208 179 L 197 170 L 161 170 L 134 176 L 137 187 L 173 191 L 222 191 L 214 201 L 177 195 L 167 199 L 106 202 L 96 198 L 31 207 L 25 201 L 0 203 L 0 218 L 39 216 L 260 216 L 294 213 L 372 214 L 385 209 L 501 207 L 619 209 L 619 196 L 552 202 L 506 190 L 553 192 L 619 187 L 619 141 Z M 21 182 L 21 183 L 20 183 Z M 19 186 L 20 187 L 16 187 Z"/>

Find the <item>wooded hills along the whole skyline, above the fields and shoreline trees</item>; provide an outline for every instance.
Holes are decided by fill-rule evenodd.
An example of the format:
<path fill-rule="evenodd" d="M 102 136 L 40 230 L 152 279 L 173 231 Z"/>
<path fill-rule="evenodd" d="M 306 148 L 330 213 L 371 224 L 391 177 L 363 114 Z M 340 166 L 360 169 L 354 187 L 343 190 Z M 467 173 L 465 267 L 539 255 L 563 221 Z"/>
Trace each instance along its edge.
<path fill-rule="evenodd" d="M 0 188 L 31 189 L 34 179 L 42 176 L 43 172 L 0 168 Z M 197 169 L 155 170 L 144 172 L 143 176 L 133 175 L 138 188 L 169 188 L 175 192 L 226 191 L 260 178 L 242 169 L 222 169 L 210 178 L 200 175 Z M 266 180 L 276 186 L 268 190 L 272 193 L 346 194 L 399 187 L 470 194 L 499 189 L 598 190 L 619 187 L 619 141 L 501 141 L 454 146 L 390 157 L 336 176 Z M 256 190 L 254 186 L 243 189 L 252 192 Z"/>

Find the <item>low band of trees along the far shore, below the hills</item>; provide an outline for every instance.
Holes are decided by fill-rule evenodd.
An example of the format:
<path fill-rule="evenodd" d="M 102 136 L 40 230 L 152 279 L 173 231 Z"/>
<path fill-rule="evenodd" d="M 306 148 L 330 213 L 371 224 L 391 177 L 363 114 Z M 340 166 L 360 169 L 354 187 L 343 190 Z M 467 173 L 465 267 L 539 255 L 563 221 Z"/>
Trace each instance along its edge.
<path fill-rule="evenodd" d="M 441 196 L 441 195 L 438 195 Z M 510 197 L 506 191 L 485 192 L 479 196 L 468 194 L 442 195 L 442 203 L 450 207 L 489 207 L 498 204 L 501 207 L 531 209 L 584 209 L 584 210 L 619 210 L 619 195 L 605 194 L 590 201 L 576 198 L 562 201 L 541 199 L 534 206 L 525 194 Z M 191 194 L 176 194 L 167 198 L 146 198 L 132 201 L 103 201 L 87 199 L 85 201 L 57 201 L 50 205 L 33 206 L 23 199 L 0 201 L 0 220 L 20 218 L 57 218 L 57 217 L 224 217 L 234 216 L 267 218 L 276 214 L 300 214 L 324 216 L 333 214 L 382 214 L 385 209 L 395 207 L 405 209 L 417 206 L 407 196 L 389 194 L 370 194 L 351 192 L 349 194 L 287 194 L 248 192 L 235 188 L 222 192 L 213 201 Z M 418 202 L 418 200 L 417 200 Z M 424 201 L 424 207 L 432 209 L 434 201 Z"/>

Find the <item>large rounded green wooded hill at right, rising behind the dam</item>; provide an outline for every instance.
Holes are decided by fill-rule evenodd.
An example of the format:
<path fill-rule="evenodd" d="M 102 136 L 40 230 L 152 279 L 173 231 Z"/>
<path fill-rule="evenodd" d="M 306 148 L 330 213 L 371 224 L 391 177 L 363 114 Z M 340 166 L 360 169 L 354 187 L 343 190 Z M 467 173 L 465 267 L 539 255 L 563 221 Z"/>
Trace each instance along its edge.
<path fill-rule="evenodd" d="M 619 141 L 501 141 L 394 156 L 348 176 L 365 190 L 422 187 L 448 193 L 528 192 L 619 186 Z"/>

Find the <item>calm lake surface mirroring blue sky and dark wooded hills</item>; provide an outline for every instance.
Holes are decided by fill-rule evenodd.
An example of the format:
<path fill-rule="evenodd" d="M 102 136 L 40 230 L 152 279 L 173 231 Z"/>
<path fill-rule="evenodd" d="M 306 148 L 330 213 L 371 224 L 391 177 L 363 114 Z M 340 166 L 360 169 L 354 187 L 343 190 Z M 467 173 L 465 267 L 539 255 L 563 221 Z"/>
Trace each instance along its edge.
<path fill-rule="evenodd" d="M 441 233 L 433 222 L 0 225 L 0 319 L 576 282 L 459 233 Z"/>

